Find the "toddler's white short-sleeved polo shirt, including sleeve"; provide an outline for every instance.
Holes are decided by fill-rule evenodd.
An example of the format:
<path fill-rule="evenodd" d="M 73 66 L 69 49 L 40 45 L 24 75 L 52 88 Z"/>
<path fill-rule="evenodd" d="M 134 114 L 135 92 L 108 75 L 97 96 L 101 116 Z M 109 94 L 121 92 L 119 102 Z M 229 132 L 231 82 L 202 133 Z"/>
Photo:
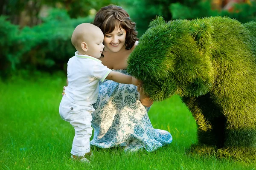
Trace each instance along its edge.
<path fill-rule="evenodd" d="M 99 80 L 103 82 L 110 72 L 111 69 L 99 59 L 79 55 L 76 51 L 75 56 L 67 62 L 67 98 L 78 105 L 95 103 L 99 94 Z"/>

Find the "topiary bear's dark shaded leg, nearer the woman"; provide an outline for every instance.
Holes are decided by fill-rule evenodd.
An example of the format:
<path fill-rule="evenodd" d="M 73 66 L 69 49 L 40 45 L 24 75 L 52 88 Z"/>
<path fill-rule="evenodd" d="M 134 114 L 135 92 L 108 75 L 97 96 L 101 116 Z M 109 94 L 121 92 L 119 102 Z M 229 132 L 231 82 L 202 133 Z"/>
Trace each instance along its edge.
<path fill-rule="evenodd" d="M 224 146 L 225 117 L 209 94 L 198 98 L 183 97 L 182 100 L 198 125 L 198 144 L 192 144 L 190 151 L 200 155 L 215 154 L 218 148 Z"/>

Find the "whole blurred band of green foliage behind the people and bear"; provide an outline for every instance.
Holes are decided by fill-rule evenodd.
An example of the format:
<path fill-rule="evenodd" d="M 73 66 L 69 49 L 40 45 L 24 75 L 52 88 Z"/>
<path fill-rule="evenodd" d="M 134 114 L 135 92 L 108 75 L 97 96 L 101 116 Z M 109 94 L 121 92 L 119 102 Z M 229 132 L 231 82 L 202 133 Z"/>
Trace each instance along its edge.
<path fill-rule="evenodd" d="M 256 18 L 255 0 L 240 0 L 228 10 L 221 0 L 3 0 L 0 5 L 0 77 L 21 70 L 66 71 L 75 48 L 70 37 L 83 22 L 90 23 L 102 6 L 116 4 L 137 23 L 140 37 L 156 16 L 165 20 L 226 15 L 245 23 Z M 231 0 L 232 1 L 232 0 Z M 236 0 L 237 1 L 237 0 Z M 238 0 L 239 1 L 239 0 Z M 24 71 L 22 72 L 24 73 Z"/>

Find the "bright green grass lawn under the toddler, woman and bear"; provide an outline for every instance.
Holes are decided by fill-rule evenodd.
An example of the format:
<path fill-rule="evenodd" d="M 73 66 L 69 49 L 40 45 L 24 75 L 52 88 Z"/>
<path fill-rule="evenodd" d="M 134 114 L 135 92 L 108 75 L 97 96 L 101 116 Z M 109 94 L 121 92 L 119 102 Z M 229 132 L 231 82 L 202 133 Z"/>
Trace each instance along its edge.
<path fill-rule="evenodd" d="M 40 78 L 38 78 L 40 77 Z M 148 115 L 173 142 L 154 152 L 99 149 L 90 164 L 70 160 L 74 130 L 58 113 L 63 74 L 0 81 L 0 169 L 6 170 L 253 170 L 253 162 L 185 154 L 197 142 L 196 124 L 178 96 L 155 102 Z"/>

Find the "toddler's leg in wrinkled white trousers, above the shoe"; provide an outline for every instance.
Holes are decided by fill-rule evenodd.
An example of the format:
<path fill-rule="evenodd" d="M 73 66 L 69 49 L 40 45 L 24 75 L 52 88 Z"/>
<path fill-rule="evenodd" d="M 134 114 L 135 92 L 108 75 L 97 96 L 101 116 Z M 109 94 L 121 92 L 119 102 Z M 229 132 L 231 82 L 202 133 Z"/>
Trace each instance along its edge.
<path fill-rule="evenodd" d="M 75 156 L 84 156 L 90 152 L 90 137 L 92 136 L 90 111 L 81 110 L 75 113 L 74 119 L 70 120 L 70 124 L 75 128 L 75 137 L 73 139 L 71 154 Z"/>

